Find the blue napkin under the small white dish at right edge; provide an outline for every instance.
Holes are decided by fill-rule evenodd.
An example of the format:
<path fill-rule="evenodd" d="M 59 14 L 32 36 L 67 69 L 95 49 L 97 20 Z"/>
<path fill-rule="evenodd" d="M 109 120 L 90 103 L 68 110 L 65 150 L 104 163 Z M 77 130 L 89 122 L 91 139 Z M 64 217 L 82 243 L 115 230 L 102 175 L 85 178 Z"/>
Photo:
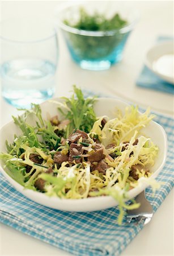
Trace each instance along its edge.
<path fill-rule="evenodd" d="M 166 40 L 173 40 L 173 38 L 167 36 L 159 36 L 157 42 L 164 42 Z M 159 92 L 174 94 L 174 85 L 160 79 L 159 76 L 155 75 L 155 73 L 153 73 L 146 66 L 142 68 L 136 84 L 137 86 L 146 89 L 158 90 Z"/>

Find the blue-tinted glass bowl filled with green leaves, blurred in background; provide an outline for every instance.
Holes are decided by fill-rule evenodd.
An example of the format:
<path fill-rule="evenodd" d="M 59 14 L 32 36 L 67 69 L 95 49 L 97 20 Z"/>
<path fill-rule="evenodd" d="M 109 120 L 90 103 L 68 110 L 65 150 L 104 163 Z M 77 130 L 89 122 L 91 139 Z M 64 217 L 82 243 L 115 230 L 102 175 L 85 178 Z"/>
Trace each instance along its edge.
<path fill-rule="evenodd" d="M 122 51 L 133 24 L 117 12 L 109 18 L 84 8 L 68 8 L 62 14 L 60 27 L 71 57 L 81 68 L 108 69 L 122 59 Z"/>

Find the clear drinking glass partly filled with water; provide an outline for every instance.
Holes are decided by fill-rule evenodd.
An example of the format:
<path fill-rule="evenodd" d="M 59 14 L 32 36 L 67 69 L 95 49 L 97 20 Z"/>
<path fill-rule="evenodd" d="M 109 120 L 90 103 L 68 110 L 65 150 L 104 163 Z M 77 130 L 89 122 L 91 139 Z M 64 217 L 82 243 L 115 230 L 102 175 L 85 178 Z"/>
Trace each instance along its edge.
<path fill-rule="evenodd" d="M 57 35 L 43 18 L 1 23 L 2 96 L 17 108 L 29 108 L 54 94 L 58 61 Z"/>

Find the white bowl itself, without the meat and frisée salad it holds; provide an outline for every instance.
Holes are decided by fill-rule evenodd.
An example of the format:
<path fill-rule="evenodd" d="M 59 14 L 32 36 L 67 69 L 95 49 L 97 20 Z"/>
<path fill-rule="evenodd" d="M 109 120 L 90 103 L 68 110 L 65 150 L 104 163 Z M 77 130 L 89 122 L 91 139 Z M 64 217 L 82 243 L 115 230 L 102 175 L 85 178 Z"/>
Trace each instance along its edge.
<path fill-rule="evenodd" d="M 60 101 L 58 98 L 54 100 Z M 95 113 L 97 116 L 108 115 L 108 117 L 113 118 L 113 112 L 116 110 L 116 108 L 121 109 L 124 113 L 126 106 L 128 106 L 128 104 L 126 104 L 124 101 L 109 98 L 99 98 L 95 104 Z M 45 119 L 48 116 L 48 113 L 50 113 L 51 116 L 57 114 L 57 105 L 49 101 L 45 101 L 43 104 L 41 104 L 41 109 Z M 30 122 L 32 125 L 33 119 L 29 119 L 28 122 Z M 2 139 L 0 148 L 1 152 L 6 151 L 6 139 L 9 143 L 13 142 L 14 134 L 19 135 L 21 132 L 13 121 L 3 126 L 0 131 L 0 137 Z M 155 160 L 155 165 L 151 169 L 154 172 L 151 177 L 156 177 L 162 170 L 165 163 L 167 155 L 167 137 L 163 127 L 154 121 L 151 121 L 150 124 L 143 129 L 143 134 L 150 137 L 152 141 L 159 147 L 159 154 Z M 57 197 L 48 197 L 44 193 L 24 189 L 22 185 L 18 184 L 9 175 L 7 175 L 5 170 L 3 170 L 2 163 L 0 169 L 6 179 L 9 180 L 11 185 L 14 186 L 19 192 L 21 192 L 24 196 L 27 196 L 29 199 L 39 204 L 43 204 L 46 207 L 74 212 L 87 212 L 92 210 L 107 209 L 117 205 L 117 202 L 111 196 L 89 197 L 87 199 L 59 199 Z M 147 184 L 139 184 L 138 187 L 129 191 L 129 197 L 132 198 L 137 196 L 146 187 Z"/>

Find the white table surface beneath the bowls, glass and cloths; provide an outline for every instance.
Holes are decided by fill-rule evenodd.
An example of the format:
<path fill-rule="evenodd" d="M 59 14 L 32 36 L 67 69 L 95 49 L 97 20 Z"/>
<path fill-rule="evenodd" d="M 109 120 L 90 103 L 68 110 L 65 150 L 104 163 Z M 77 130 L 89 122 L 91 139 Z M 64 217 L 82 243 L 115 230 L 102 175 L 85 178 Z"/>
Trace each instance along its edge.
<path fill-rule="evenodd" d="M 12 16 L 42 15 L 53 16 L 56 8 L 65 1 L 2 1 L 1 19 Z M 135 86 L 143 66 L 147 49 L 159 35 L 173 36 L 172 1 L 129 1 L 124 5 L 137 9 L 141 15 L 137 26 L 130 35 L 124 51 L 124 59 L 108 71 L 85 71 L 70 59 L 64 41 L 60 39 L 60 59 L 56 75 L 55 96 L 68 96 L 71 85 L 77 84 L 103 94 L 120 96 L 141 106 L 173 115 L 173 97 Z M 1 98 L 1 126 L 16 115 L 17 110 Z M 38 241 L 9 226 L 1 224 L 1 255 L 70 255 L 56 247 Z M 152 221 L 138 234 L 122 252 L 130 255 L 173 255 L 173 192 L 155 213 Z"/>

